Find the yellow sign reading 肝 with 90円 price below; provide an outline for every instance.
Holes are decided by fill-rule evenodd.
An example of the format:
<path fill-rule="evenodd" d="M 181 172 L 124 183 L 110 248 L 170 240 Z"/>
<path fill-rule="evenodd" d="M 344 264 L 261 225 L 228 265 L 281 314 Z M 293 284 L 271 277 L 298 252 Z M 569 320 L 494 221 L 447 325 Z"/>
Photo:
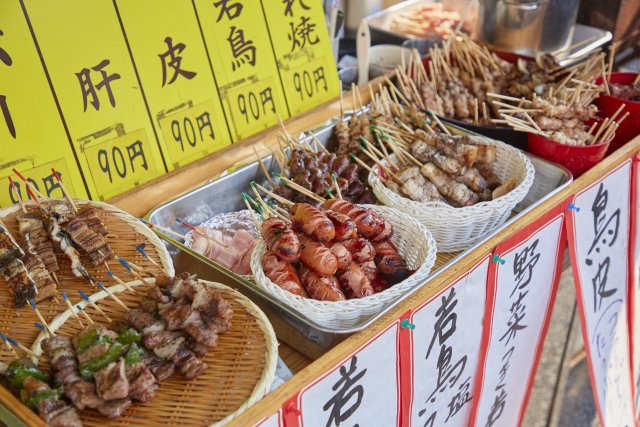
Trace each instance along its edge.
<path fill-rule="evenodd" d="M 25 6 L 92 198 L 164 173 L 113 2 L 25 0 Z"/>

